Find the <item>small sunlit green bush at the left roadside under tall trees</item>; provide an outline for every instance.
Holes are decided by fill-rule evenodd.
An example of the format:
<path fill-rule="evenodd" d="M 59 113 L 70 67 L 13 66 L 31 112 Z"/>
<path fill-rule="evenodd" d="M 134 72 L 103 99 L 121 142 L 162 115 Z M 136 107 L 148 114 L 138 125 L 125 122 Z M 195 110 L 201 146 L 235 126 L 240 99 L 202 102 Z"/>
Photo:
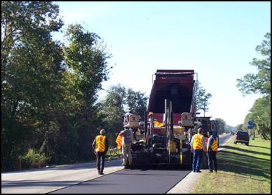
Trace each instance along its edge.
<path fill-rule="evenodd" d="M 34 149 L 29 149 L 27 154 L 22 157 L 23 164 L 26 168 L 41 168 L 50 158 L 45 154 L 39 154 Z"/>

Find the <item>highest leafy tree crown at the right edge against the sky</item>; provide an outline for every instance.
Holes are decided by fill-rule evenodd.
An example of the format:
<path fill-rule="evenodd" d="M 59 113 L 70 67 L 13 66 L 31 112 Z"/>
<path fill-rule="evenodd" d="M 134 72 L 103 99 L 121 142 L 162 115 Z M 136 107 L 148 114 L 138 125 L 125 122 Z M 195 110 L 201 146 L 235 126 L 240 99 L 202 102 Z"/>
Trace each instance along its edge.
<path fill-rule="evenodd" d="M 243 79 L 237 79 L 237 87 L 243 95 L 250 93 L 261 93 L 269 95 L 271 93 L 271 34 L 266 33 L 265 39 L 261 45 L 256 47 L 257 53 L 260 53 L 264 59 L 257 60 L 253 58 L 250 65 L 257 67 L 257 74 L 246 74 Z"/>

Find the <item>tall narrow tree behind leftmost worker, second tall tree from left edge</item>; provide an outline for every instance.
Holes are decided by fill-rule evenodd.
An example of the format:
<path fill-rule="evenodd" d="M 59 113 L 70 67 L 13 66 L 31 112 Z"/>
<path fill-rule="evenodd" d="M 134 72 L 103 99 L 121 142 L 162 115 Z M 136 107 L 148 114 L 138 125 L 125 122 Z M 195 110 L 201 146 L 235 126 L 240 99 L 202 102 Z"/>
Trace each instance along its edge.
<path fill-rule="evenodd" d="M 89 32 L 81 25 L 69 25 L 66 32 L 68 46 L 63 47 L 65 65 L 74 88 L 73 95 L 78 102 L 75 115 L 77 136 L 79 137 L 79 159 L 90 159 L 90 142 L 97 133 L 97 92 L 102 81 L 107 81 L 109 70 L 107 60 L 111 55 L 100 36 Z"/>

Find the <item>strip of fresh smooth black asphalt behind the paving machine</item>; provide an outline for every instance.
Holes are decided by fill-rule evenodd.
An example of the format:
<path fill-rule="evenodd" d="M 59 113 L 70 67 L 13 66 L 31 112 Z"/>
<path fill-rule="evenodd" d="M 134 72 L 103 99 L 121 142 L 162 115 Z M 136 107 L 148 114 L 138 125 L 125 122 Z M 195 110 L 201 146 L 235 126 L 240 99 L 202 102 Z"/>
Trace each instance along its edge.
<path fill-rule="evenodd" d="M 118 170 L 87 182 L 53 191 L 53 194 L 162 194 L 191 170 Z"/>

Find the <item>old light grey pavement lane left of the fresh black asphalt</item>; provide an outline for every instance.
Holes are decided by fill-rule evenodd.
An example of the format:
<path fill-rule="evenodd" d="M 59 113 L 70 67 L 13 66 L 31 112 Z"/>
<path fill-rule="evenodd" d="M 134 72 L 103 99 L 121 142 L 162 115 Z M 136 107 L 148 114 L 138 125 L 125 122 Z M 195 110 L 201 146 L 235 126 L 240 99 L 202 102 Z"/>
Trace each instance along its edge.
<path fill-rule="evenodd" d="M 105 174 L 123 169 L 120 159 L 106 162 L 105 166 Z M 95 163 L 1 173 L 1 193 L 48 193 L 96 177 L 100 177 L 100 175 L 97 175 Z"/>

